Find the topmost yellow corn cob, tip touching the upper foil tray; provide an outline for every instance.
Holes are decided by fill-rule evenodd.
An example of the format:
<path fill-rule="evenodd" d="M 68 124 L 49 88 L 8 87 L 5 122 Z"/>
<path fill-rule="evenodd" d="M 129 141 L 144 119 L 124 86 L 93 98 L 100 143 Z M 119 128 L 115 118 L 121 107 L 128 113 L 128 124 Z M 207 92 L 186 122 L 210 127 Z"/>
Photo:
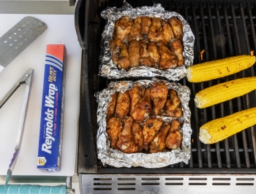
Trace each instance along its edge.
<path fill-rule="evenodd" d="M 255 56 L 239 55 L 236 57 L 223 58 L 217 61 L 200 63 L 189 66 L 187 69 L 187 79 L 189 82 L 205 82 L 249 68 L 255 63 Z"/>

